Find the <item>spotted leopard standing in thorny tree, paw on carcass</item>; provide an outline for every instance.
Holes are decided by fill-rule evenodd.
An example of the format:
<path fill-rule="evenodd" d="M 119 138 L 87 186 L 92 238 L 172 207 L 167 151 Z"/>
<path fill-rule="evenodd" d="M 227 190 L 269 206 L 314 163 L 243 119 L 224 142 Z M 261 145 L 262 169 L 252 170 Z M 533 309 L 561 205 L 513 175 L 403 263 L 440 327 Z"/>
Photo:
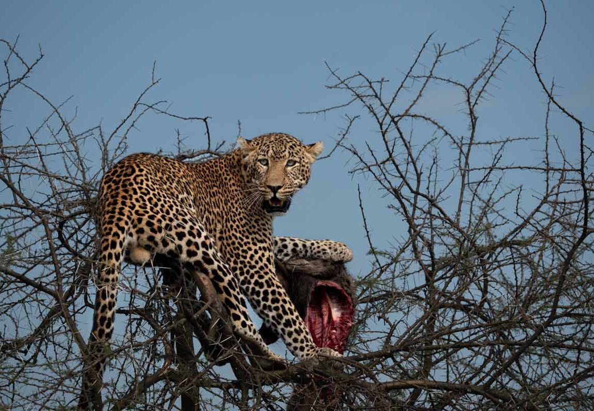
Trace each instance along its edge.
<path fill-rule="evenodd" d="M 114 330 L 122 264 L 143 266 L 157 255 L 205 273 L 233 332 L 266 356 L 280 359 L 258 333 L 245 298 L 299 361 L 340 356 L 315 345 L 274 267 L 275 258 L 353 258 L 339 241 L 273 235 L 273 219 L 289 210 L 323 148 L 321 141 L 303 144 L 286 133 L 268 133 L 239 137 L 235 149 L 204 162 L 137 153 L 106 171 L 97 197 L 96 299 L 83 390 L 102 384 L 101 353 Z"/>

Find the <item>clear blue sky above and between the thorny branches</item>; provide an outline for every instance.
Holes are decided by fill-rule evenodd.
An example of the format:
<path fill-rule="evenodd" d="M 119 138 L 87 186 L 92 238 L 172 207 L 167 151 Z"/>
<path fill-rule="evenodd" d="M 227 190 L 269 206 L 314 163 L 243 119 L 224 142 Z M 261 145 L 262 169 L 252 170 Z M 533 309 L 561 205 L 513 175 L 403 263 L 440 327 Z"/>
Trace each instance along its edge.
<path fill-rule="evenodd" d="M 305 142 L 321 139 L 330 147 L 343 126 L 341 113 L 298 114 L 346 99 L 324 88 L 329 79 L 325 61 L 345 75 L 362 71 L 399 81 L 400 72 L 435 31 L 435 42 L 447 42 L 450 47 L 481 39 L 444 66 L 447 74 L 467 81 L 491 51 L 507 8 L 515 5 L 507 38 L 524 48 L 535 43 L 541 28 L 540 4 L 517 3 L 5 0 L 0 37 L 14 40 L 20 35 L 20 50 L 30 59 L 41 44 L 46 57 L 30 84 L 55 103 L 74 96 L 66 110 L 77 109 L 77 130 L 99 122 L 107 130 L 113 128 L 149 83 L 156 60 L 162 82 L 150 98 L 168 100 L 177 114 L 213 117 L 210 128 L 215 142 L 233 141 L 240 120 L 247 138 L 279 131 Z M 594 4 L 549 2 L 548 9 L 549 27 L 541 53 L 545 79 L 550 81 L 554 75 L 560 100 L 592 126 Z M 456 106 L 460 95 L 439 87 L 429 93 L 423 108 L 464 133 Z M 482 139 L 542 135 L 544 96 L 519 55 L 506 63 L 491 94 L 479 113 Z M 8 107 L 12 111 L 4 121 L 13 127 L 7 137 L 15 143 L 26 138 L 26 126 L 37 125 L 48 113 L 26 93 L 14 94 Z M 354 109 L 346 112 L 358 114 Z M 188 146 L 204 146 L 198 123 L 179 125 L 162 116 L 147 116 L 129 139 L 130 152 L 174 151 L 176 126 L 189 136 Z M 563 135 L 563 124 L 556 132 Z M 374 130 L 364 123 L 353 130 L 350 140 L 360 144 L 371 138 Z M 87 157 L 93 158 L 92 148 L 88 149 Z M 477 163 L 489 160 L 489 152 L 477 155 Z M 510 155 L 529 161 L 539 154 L 527 149 Z M 315 164 L 311 183 L 296 198 L 289 215 L 277 219 L 276 232 L 345 241 L 355 251 L 350 268 L 357 275 L 368 272 L 370 266 L 358 211 L 358 183 L 378 243 L 402 238 L 405 228 L 392 217 L 371 181 L 353 179 L 347 173 L 353 164 L 341 151 Z"/>

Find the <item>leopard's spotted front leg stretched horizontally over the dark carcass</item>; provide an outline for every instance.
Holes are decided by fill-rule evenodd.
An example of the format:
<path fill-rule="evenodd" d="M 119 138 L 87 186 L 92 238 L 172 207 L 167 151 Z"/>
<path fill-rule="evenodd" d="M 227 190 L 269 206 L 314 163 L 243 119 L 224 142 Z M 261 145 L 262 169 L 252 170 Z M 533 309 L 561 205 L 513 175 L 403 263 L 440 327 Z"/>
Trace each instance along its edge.
<path fill-rule="evenodd" d="M 333 240 L 274 237 L 273 247 L 274 256 L 282 262 L 291 259 L 321 259 L 346 263 L 353 259 L 353 251 L 346 244 Z"/>

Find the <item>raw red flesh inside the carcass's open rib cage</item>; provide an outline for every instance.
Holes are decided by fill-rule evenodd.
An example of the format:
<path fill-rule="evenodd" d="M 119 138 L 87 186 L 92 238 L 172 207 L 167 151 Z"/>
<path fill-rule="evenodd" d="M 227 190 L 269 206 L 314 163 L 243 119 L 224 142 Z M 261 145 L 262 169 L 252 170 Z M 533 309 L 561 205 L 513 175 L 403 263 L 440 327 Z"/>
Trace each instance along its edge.
<path fill-rule="evenodd" d="M 305 324 L 315 345 L 343 353 L 355 307 L 345 290 L 333 281 L 318 281 L 312 289 Z"/>

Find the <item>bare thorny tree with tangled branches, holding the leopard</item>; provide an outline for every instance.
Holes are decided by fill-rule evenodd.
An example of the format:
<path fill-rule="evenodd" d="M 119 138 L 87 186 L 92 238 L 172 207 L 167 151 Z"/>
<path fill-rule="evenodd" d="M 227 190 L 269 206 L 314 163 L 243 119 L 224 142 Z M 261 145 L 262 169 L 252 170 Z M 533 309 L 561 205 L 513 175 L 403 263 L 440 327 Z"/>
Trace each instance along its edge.
<path fill-rule="evenodd" d="M 541 74 L 544 4 L 542 11 L 542 32 L 530 51 L 508 40 L 510 11 L 469 81 L 441 69 L 475 43 L 448 49 L 432 43 L 433 36 L 395 85 L 362 72 L 341 75 L 328 65 L 328 88 L 346 98 L 315 113 L 350 113 L 337 146 L 355 160 L 351 172 L 380 187 L 395 221 L 407 228 L 394 244 L 377 244 L 359 195 L 371 269 L 357 281 L 356 323 L 340 367 L 252 364 L 241 345 L 227 339 L 224 318 L 223 328 L 210 327 L 224 310 L 208 297 L 208 282 L 189 283 L 187 294 L 174 300 L 167 273 L 128 267 L 121 283 L 127 301 L 118 310 L 121 336 L 106 353 L 112 371 L 105 406 L 278 410 L 292 387 L 309 390 L 296 397 L 305 399 L 321 393 L 311 390 L 321 385 L 331 387 L 333 403 L 309 397 L 310 408 L 592 409 L 593 132 Z M 64 114 L 67 101 L 52 104 L 27 84 L 42 54 L 27 62 L 15 44 L 2 44 L 0 404 L 68 409 L 77 403 L 86 352 L 87 332 L 80 329 L 92 305 L 98 179 L 124 154 L 126 136 L 142 115 L 172 114 L 160 101 L 144 102 L 158 83 L 153 77 L 113 132 L 100 126 L 74 132 L 72 116 Z M 531 70 L 526 81 L 539 85 L 546 99 L 542 125 L 529 138 L 485 137 L 482 104 L 496 98 L 490 90 L 503 68 L 523 62 Z M 463 96 L 463 135 L 422 110 L 435 85 Z M 33 93 L 49 113 L 29 129 L 26 144 L 11 146 L 2 110 L 14 90 Z M 207 135 L 204 151 L 180 151 L 179 158 L 217 155 L 222 147 L 211 147 L 207 117 L 177 118 L 201 122 Z M 555 119 L 569 125 L 561 135 L 552 130 Z M 372 124 L 374 135 L 355 138 L 359 123 Z M 84 154 L 91 144 L 99 146 L 100 165 Z M 511 164 L 506 154 L 528 144 L 541 158 Z M 492 153 L 487 163 L 476 155 L 483 149 Z M 201 301 L 194 299 L 195 288 Z M 198 350 L 191 333 L 203 343 Z M 223 345 L 209 351 L 213 341 Z M 225 361 L 228 368 L 216 365 Z"/>

